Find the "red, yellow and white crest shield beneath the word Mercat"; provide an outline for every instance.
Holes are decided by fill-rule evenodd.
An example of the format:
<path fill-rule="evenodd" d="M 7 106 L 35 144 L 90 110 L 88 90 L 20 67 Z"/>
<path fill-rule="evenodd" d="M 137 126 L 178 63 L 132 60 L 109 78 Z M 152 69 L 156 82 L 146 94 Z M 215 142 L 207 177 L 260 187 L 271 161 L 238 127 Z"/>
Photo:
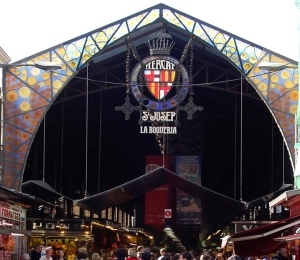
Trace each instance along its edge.
<path fill-rule="evenodd" d="M 163 99 L 172 89 L 175 80 L 175 70 L 145 70 L 144 77 L 149 92 L 157 100 Z"/>

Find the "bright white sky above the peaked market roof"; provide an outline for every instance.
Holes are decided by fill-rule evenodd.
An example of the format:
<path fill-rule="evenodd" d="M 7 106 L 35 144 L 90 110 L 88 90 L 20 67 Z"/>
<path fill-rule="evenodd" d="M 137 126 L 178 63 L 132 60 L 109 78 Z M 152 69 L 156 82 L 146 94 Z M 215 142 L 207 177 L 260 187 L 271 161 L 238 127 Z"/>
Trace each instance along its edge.
<path fill-rule="evenodd" d="M 0 47 L 18 61 L 159 3 L 299 60 L 295 0 L 2 1 Z"/>

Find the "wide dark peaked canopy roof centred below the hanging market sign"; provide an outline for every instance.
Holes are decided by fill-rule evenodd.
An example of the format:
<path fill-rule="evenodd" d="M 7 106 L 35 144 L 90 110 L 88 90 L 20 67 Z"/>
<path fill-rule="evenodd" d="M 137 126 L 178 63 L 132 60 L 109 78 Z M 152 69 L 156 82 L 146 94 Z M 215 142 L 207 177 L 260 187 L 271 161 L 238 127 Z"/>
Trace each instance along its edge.
<path fill-rule="evenodd" d="M 233 215 L 246 208 L 246 203 L 244 202 L 197 185 L 165 168 L 158 168 L 113 189 L 77 200 L 76 205 L 92 212 L 100 213 L 103 209 L 117 206 L 164 184 L 169 184 L 203 201 L 209 201 L 210 204 L 217 205 L 224 210 L 230 210 L 233 212 Z"/>

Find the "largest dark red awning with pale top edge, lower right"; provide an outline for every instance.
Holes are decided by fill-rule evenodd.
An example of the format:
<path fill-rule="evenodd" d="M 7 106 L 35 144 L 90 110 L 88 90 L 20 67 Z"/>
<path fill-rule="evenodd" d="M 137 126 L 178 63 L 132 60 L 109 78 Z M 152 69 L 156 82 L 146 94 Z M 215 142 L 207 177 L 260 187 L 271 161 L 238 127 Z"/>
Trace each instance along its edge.
<path fill-rule="evenodd" d="M 268 255 L 276 253 L 283 244 L 274 238 L 295 234 L 299 227 L 300 216 L 297 216 L 232 234 L 230 240 L 237 255 Z"/>

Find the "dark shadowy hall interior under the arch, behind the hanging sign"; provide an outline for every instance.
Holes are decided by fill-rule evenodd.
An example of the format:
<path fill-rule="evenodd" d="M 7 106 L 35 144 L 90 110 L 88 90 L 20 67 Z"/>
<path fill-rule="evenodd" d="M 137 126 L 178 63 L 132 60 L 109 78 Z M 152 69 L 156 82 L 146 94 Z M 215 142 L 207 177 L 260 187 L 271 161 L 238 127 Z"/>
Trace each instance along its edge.
<path fill-rule="evenodd" d="M 149 35 L 161 30 L 175 42 L 171 56 L 181 58 L 190 35 L 158 22 L 131 35 L 141 59 L 150 55 L 145 44 Z M 143 175 L 146 155 L 163 150 L 170 155 L 200 155 L 203 186 L 232 198 L 241 196 L 241 175 L 244 201 L 278 189 L 283 178 L 292 183 L 282 135 L 252 86 L 242 81 L 241 98 L 241 75 L 227 60 L 196 40 L 193 54 L 194 103 L 203 111 L 196 112 L 192 120 L 181 111 L 178 134 L 159 140 L 165 143 L 164 149 L 155 135 L 140 134 L 138 112 L 125 120 L 124 113 L 115 110 L 126 97 L 127 46 L 123 39 L 93 57 L 88 70 L 79 71 L 49 109 L 46 127 L 41 125 L 32 144 L 23 182 L 44 177 L 60 193 L 80 199 L 85 180 L 89 195 L 113 188 Z M 187 69 L 190 58 L 189 54 L 183 63 Z M 131 56 L 131 70 L 137 63 Z"/>

